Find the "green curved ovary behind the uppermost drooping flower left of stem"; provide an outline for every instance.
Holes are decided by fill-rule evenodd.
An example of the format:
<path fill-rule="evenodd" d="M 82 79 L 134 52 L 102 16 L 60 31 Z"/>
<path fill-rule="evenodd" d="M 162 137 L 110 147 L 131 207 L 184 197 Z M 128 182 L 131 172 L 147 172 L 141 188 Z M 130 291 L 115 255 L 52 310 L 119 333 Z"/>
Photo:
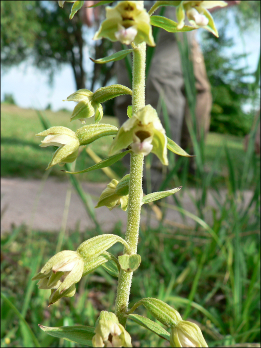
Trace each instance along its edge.
<path fill-rule="evenodd" d="M 132 90 L 122 85 L 111 85 L 100 87 L 92 95 L 92 101 L 95 103 L 104 103 L 105 101 L 115 98 L 116 96 L 129 94 L 132 95 Z"/>

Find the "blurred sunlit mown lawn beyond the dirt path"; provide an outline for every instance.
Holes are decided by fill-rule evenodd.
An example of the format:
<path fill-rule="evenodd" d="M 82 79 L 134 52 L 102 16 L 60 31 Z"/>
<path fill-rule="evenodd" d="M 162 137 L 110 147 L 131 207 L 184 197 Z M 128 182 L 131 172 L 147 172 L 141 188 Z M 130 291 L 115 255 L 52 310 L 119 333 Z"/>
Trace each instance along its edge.
<path fill-rule="evenodd" d="M 53 126 L 62 125 L 73 130 L 81 126 L 80 122 L 70 122 L 70 112 L 52 112 L 46 110 L 45 115 Z M 87 123 L 92 123 L 88 119 Z M 115 117 L 103 117 L 103 123 L 117 124 Z M 15 105 L 1 104 L 1 176 L 8 177 L 36 177 L 41 178 L 45 168 L 51 160 L 53 150 L 51 148 L 40 148 L 40 138 L 35 137 L 36 133 L 42 131 L 42 124 L 37 113 L 32 109 L 22 109 Z M 112 137 L 101 138 L 90 144 L 91 149 L 101 158 L 108 154 L 108 148 Z M 245 159 L 244 138 L 209 133 L 205 147 L 205 166 L 210 169 L 218 153 L 221 151 L 219 176 L 227 176 L 226 153 L 224 146 L 227 145 L 235 166 L 239 172 L 243 170 Z M 77 160 L 76 170 L 83 170 L 92 166 L 94 162 L 82 151 Z M 119 175 L 124 174 L 125 167 L 116 163 L 112 169 Z M 59 166 L 55 166 L 51 175 L 59 176 L 64 174 Z M 107 181 L 107 177 L 101 170 L 81 175 L 81 180 Z"/>

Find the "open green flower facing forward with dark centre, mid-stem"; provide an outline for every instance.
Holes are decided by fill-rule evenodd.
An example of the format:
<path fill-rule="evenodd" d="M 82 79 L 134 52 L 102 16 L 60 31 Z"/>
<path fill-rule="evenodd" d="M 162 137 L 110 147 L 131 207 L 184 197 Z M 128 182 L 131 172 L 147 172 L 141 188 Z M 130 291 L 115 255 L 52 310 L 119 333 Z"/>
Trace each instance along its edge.
<path fill-rule="evenodd" d="M 114 155 L 129 145 L 136 154 L 146 156 L 154 153 L 163 165 L 168 166 L 166 132 L 151 105 L 146 105 L 123 123 L 113 140 L 110 154 Z"/>

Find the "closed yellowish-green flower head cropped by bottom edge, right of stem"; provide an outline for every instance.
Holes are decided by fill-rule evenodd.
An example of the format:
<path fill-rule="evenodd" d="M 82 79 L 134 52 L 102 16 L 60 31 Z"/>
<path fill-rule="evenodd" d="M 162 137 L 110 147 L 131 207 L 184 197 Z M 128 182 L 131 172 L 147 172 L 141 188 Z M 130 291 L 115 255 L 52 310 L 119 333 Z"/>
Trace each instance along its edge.
<path fill-rule="evenodd" d="M 208 347 L 200 328 L 185 320 L 172 328 L 170 343 L 171 347 Z"/>

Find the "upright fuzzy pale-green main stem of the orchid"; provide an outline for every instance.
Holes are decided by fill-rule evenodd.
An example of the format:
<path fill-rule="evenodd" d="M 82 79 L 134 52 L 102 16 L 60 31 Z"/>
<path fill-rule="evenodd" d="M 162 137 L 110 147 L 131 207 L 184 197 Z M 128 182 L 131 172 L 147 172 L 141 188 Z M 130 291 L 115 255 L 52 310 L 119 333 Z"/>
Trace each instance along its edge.
<path fill-rule="evenodd" d="M 140 1 L 143 2 L 143 1 Z M 146 43 L 138 45 L 133 52 L 133 84 L 132 84 L 132 110 L 133 113 L 145 106 L 145 62 L 146 62 Z M 127 230 L 125 240 L 128 242 L 131 253 L 137 254 L 137 245 L 140 229 L 141 201 L 142 201 L 142 172 L 143 155 L 131 152 L 130 162 L 130 186 L 129 201 L 127 210 Z M 124 249 L 124 254 L 126 250 Z M 115 314 L 120 324 L 125 326 L 126 313 L 129 305 L 130 288 L 133 272 L 126 272 L 121 269 L 117 295 L 115 302 Z"/>

